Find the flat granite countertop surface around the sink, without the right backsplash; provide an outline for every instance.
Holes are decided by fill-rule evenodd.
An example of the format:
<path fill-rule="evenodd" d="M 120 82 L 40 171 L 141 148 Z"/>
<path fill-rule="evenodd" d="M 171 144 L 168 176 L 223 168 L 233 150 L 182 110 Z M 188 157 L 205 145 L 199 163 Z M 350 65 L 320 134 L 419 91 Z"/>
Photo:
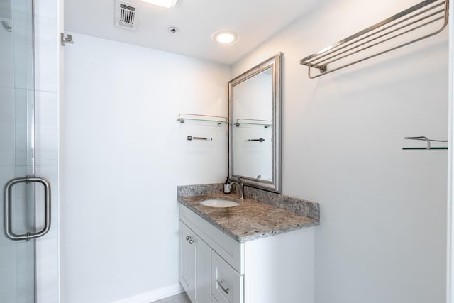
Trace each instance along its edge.
<path fill-rule="evenodd" d="M 235 193 L 223 194 L 218 190 L 202 192 L 195 190 L 191 194 L 187 194 L 188 192 L 184 194 L 184 191 L 179 189 L 178 202 L 240 243 L 319 225 L 318 217 L 310 218 L 277 206 L 258 202 L 255 199 L 245 198 L 240 200 L 238 194 Z M 200 204 L 203 200 L 216 198 L 230 199 L 240 202 L 240 205 L 216 208 Z"/>

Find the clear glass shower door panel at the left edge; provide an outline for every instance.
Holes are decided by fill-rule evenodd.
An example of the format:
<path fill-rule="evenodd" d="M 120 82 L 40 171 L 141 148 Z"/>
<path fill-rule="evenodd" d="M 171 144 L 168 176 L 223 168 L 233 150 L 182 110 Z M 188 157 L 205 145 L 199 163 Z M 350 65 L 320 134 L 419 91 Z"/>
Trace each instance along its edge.
<path fill-rule="evenodd" d="M 0 0 L 0 188 L 33 175 L 33 4 Z M 15 233 L 34 231 L 35 189 L 16 184 L 11 194 Z M 4 201 L 2 201 L 4 203 Z M 4 206 L 0 207 L 4 228 Z M 0 302 L 35 302 L 35 241 L 12 241 L 0 233 Z"/>

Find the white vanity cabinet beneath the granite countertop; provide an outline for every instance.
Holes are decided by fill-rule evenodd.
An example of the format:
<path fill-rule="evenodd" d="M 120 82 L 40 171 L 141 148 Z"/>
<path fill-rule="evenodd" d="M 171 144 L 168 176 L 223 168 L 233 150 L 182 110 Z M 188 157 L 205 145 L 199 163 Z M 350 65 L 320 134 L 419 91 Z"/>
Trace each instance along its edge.
<path fill-rule="evenodd" d="M 314 227 L 240 243 L 181 203 L 179 220 L 192 303 L 314 303 Z"/>

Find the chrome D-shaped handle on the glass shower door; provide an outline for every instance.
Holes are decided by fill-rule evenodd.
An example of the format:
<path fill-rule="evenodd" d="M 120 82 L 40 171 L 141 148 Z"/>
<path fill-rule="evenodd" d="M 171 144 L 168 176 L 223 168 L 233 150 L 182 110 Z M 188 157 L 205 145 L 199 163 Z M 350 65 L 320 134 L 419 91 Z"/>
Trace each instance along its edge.
<path fill-rule="evenodd" d="M 11 190 L 15 184 L 38 182 L 44 186 L 44 227 L 37 232 L 28 232 L 22 235 L 17 235 L 13 232 L 13 223 L 11 221 Z M 50 230 L 50 182 L 43 177 L 21 177 L 9 180 L 5 185 L 5 234 L 11 240 L 30 240 L 44 236 Z"/>

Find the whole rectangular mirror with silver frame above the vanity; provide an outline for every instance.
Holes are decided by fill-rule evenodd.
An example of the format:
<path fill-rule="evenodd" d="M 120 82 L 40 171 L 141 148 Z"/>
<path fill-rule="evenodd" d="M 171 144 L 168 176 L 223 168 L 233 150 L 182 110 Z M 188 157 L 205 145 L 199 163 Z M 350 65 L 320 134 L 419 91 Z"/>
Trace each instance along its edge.
<path fill-rule="evenodd" d="M 260 63 L 228 82 L 229 177 L 281 191 L 281 60 Z"/>

